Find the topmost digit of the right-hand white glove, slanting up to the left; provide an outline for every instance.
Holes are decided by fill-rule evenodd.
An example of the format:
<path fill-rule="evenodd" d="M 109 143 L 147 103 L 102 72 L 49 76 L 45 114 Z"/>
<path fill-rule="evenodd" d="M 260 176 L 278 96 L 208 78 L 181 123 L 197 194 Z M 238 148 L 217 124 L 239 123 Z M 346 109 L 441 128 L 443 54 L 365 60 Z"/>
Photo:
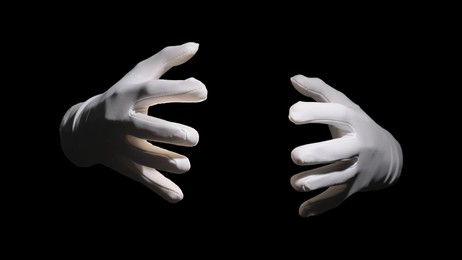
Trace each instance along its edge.
<path fill-rule="evenodd" d="M 319 78 L 308 78 L 296 75 L 290 78 L 292 85 L 301 94 L 311 97 L 318 102 L 339 103 L 345 106 L 357 106 L 345 94 L 327 85 Z"/>

